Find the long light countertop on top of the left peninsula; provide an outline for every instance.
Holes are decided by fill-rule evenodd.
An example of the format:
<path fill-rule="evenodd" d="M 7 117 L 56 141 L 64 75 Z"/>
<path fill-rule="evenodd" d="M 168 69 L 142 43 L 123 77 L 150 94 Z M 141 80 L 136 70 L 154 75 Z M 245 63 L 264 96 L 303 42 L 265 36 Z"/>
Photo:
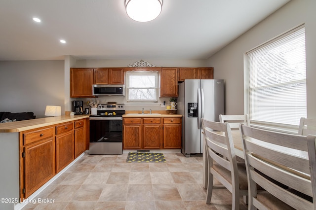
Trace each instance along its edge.
<path fill-rule="evenodd" d="M 16 122 L 0 123 L 0 133 L 14 133 L 27 131 L 30 129 L 40 128 L 44 126 L 55 125 L 59 123 L 70 122 L 74 120 L 89 118 L 89 114 L 82 115 L 62 115 L 56 117 L 37 118 L 32 120 L 21 120 Z"/>

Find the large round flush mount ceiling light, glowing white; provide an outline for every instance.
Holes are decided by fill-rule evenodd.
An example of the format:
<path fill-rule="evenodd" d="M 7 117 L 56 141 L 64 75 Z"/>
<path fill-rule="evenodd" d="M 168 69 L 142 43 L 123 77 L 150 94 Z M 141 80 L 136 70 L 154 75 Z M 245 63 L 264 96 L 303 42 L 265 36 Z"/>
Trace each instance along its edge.
<path fill-rule="evenodd" d="M 138 22 L 148 22 L 161 12 L 162 0 L 125 0 L 127 15 Z"/>

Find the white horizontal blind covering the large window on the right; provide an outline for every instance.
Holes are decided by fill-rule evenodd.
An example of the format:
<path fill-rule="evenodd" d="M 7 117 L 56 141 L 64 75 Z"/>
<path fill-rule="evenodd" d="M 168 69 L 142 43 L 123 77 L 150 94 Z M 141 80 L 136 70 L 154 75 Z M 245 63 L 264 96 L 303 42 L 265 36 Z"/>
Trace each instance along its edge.
<path fill-rule="evenodd" d="M 305 29 L 246 53 L 250 120 L 299 125 L 306 117 Z"/>

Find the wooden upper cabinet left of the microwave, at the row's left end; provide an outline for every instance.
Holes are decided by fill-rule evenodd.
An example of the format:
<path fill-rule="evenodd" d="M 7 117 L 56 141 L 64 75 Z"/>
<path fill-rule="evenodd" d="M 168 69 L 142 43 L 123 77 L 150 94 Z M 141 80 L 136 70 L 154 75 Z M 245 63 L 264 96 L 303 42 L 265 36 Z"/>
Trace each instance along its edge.
<path fill-rule="evenodd" d="M 93 69 L 70 69 L 70 97 L 92 96 Z"/>

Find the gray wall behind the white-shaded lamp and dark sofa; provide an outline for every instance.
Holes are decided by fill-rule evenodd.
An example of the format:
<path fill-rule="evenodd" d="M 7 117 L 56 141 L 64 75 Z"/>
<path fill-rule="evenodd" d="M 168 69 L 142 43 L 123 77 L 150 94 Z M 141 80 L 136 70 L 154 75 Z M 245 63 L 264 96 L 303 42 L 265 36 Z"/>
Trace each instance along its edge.
<path fill-rule="evenodd" d="M 0 62 L 0 111 L 32 111 L 39 118 L 46 105 L 65 111 L 64 61 Z"/>

